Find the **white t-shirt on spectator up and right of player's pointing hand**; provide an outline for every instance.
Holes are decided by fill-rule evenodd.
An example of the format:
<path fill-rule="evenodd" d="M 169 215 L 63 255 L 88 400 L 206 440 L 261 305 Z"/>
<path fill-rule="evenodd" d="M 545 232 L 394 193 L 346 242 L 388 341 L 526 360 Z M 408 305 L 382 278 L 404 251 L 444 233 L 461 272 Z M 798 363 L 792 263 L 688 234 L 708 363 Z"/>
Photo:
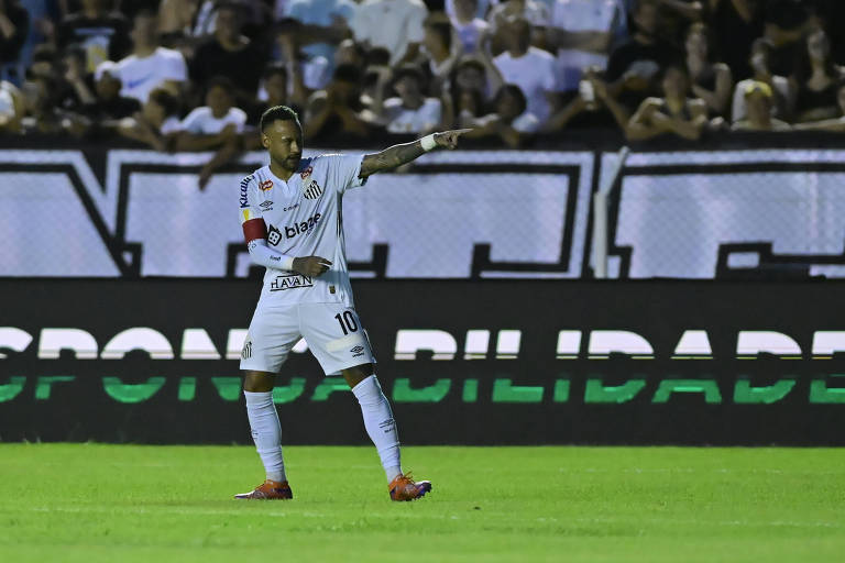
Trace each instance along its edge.
<path fill-rule="evenodd" d="M 525 55 L 514 58 L 505 51 L 493 59 L 506 84 L 515 84 L 523 90 L 528 109 L 540 121 L 549 117 L 549 101 L 545 92 L 558 89 L 555 78 L 555 57 L 537 47 L 528 47 Z"/>

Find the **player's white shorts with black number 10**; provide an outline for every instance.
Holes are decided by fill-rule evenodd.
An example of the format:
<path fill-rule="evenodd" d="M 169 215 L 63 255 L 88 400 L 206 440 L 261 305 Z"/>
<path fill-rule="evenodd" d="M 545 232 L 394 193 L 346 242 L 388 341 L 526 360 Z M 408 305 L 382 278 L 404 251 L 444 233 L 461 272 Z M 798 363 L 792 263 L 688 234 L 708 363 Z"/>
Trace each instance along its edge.
<path fill-rule="evenodd" d="M 326 375 L 375 363 L 358 313 L 343 303 L 267 307 L 259 302 L 241 351 L 241 369 L 278 373 L 304 338 Z"/>

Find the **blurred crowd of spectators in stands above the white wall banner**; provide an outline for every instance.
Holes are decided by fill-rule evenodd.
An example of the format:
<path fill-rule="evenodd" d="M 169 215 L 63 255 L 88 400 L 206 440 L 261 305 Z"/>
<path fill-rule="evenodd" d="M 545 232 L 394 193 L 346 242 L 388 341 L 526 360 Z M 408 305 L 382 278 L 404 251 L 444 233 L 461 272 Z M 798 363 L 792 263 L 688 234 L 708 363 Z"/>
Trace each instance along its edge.
<path fill-rule="evenodd" d="M 524 146 L 845 131 L 843 0 L 0 0 L 0 132 L 259 146 L 473 128 Z"/>

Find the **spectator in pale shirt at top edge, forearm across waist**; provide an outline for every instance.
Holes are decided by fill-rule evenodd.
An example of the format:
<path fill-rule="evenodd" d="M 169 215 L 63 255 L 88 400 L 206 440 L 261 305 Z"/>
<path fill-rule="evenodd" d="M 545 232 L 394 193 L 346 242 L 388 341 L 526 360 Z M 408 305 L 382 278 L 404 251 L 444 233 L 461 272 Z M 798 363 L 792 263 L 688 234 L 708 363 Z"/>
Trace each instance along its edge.
<path fill-rule="evenodd" d="M 561 91 L 578 90 L 584 68 L 607 67 L 611 41 L 622 19 L 617 0 L 557 0 L 546 44 L 557 53 Z"/>

